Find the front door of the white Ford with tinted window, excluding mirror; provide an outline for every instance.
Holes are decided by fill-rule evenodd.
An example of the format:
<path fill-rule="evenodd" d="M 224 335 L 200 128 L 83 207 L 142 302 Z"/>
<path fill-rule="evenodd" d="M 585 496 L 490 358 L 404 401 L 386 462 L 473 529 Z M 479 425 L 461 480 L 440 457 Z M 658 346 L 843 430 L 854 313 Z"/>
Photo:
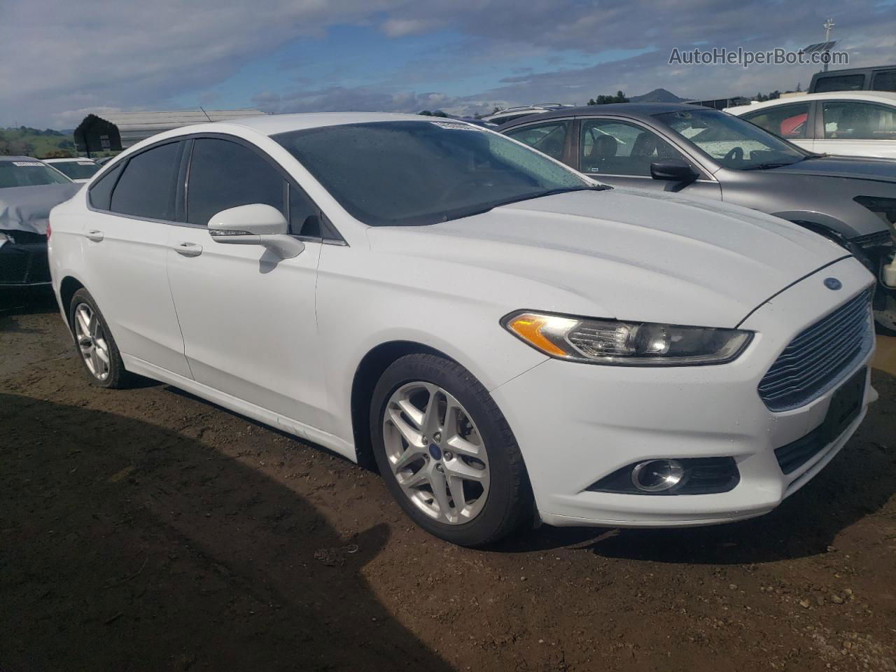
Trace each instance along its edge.
<path fill-rule="evenodd" d="M 168 279 L 194 378 L 317 426 L 324 399 L 314 314 L 320 213 L 254 145 L 226 136 L 191 144 L 185 223 L 171 228 Z M 280 259 L 263 246 L 214 242 L 211 217 L 250 203 L 283 212 L 305 250 Z"/>

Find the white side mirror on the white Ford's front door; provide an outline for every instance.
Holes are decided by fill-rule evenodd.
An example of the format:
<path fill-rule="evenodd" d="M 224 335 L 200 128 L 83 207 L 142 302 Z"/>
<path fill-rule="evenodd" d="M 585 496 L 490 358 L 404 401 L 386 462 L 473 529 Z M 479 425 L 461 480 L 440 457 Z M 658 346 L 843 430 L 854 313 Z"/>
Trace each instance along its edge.
<path fill-rule="evenodd" d="M 216 243 L 267 247 L 281 259 L 291 259 L 305 249 L 305 243 L 289 236 L 283 213 L 264 203 L 220 211 L 209 220 L 209 234 Z"/>

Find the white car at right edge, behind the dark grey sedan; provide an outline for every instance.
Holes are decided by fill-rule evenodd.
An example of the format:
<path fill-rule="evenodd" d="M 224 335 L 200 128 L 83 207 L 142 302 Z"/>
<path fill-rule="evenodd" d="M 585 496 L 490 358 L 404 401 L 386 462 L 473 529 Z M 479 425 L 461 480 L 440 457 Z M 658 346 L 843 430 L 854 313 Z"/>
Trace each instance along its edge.
<path fill-rule="evenodd" d="M 807 151 L 896 159 L 896 93 L 813 93 L 725 111 Z"/>

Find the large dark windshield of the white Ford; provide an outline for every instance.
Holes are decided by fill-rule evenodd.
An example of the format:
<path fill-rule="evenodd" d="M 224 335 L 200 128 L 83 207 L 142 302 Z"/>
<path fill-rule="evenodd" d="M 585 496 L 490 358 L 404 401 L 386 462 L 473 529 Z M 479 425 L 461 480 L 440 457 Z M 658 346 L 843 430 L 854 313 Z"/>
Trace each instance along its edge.
<path fill-rule="evenodd" d="M 323 126 L 273 138 L 372 226 L 435 224 L 604 188 L 503 135 L 452 121 Z"/>

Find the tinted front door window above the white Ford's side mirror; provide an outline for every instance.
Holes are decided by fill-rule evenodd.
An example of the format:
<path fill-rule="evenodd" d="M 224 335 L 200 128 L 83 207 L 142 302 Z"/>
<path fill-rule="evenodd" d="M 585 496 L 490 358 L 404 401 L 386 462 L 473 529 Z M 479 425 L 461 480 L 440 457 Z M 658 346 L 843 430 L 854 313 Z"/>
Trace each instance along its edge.
<path fill-rule="evenodd" d="M 286 216 L 280 172 L 256 152 L 237 142 L 198 138 L 190 159 L 186 220 L 208 226 L 222 210 L 264 203 Z"/>

